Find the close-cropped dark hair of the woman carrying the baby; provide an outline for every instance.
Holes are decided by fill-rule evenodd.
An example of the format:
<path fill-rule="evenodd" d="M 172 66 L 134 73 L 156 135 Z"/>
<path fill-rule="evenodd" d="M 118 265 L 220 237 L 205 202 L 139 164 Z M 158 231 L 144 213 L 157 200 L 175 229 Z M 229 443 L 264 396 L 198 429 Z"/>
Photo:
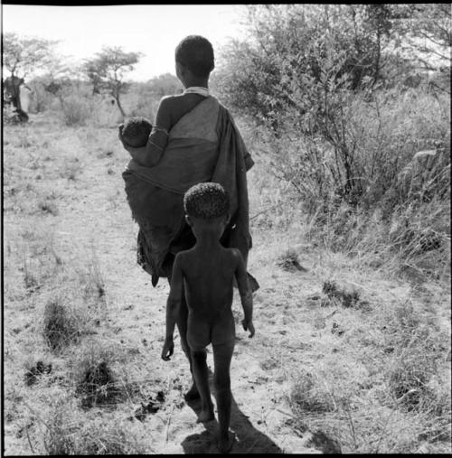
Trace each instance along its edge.
<path fill-rule="evenodd" d="M 212 44 L 200 35 L 185 37 L 175 49 L 175 60 L 199 78 L 208 77 L 215 67 Z"/>

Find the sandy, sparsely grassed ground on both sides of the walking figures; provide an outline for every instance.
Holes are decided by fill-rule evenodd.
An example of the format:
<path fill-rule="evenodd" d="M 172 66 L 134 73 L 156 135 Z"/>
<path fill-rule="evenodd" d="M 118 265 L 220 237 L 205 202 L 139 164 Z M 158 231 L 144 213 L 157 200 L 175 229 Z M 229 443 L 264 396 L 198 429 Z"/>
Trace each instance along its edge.
<path fill-rule="evenodd" d="M 160 360 L 168 285 L 136 264 L 116 129 L 31 121 L 4 134 L 5 453 L 218 453 L 177 339 Z M 232 453 L 450 453 L 447 282 L 316 245 L 256 159 Z"/>

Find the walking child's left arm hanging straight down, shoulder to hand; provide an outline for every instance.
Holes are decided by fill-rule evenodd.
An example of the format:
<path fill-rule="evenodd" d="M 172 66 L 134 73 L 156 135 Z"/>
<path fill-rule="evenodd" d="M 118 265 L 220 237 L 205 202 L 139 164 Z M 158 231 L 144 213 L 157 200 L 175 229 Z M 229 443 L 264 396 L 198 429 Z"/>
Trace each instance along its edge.
<path fill-rule="evenodd" d="M 179 313 L 181 298 L 184 288 L 184 274 L 180 266 L 180 257 L 174 258 L 173 274 L 171 277 L 171 288 L 168 300 L 166 301 L 166 332 L 165 343 L 162 349 L 162 360 L 170 360 L 174 352 L 173 333 L 174 326 Z"/>

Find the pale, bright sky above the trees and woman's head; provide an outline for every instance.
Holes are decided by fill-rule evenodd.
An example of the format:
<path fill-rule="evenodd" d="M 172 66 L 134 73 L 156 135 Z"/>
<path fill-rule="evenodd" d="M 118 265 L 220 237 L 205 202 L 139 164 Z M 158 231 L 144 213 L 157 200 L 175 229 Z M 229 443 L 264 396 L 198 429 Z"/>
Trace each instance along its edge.
<path fill-rule="evenodd" d="M 217 51 L 244 36 L 243 5 L 2 5 L 2 31 L 60 40 L 55 51 L 71 62 L 93 57 L 102 46 L 141 51 L 129 79 L 146 81 L 174 71 L 174 49 L 184 36 L 198 34 Z"/>

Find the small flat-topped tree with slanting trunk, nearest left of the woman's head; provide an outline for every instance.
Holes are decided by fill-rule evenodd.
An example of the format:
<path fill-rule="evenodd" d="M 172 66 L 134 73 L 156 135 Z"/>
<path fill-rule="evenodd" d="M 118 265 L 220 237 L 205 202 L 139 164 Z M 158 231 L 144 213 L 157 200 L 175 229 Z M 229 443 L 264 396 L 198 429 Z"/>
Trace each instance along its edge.
<path fill-rule="evenodd" d="M 120 97 L 129 86 L 124 78 L 127 72 L 134 70 L 142 55 L 141 52 L 123 51 L 120 47 L 104 47 L 95 58 L 85 61 L 84 70 L 93 85 L 93 94 L 108 91 L 115 98 L 123 117 L 126 113 Z"/>

